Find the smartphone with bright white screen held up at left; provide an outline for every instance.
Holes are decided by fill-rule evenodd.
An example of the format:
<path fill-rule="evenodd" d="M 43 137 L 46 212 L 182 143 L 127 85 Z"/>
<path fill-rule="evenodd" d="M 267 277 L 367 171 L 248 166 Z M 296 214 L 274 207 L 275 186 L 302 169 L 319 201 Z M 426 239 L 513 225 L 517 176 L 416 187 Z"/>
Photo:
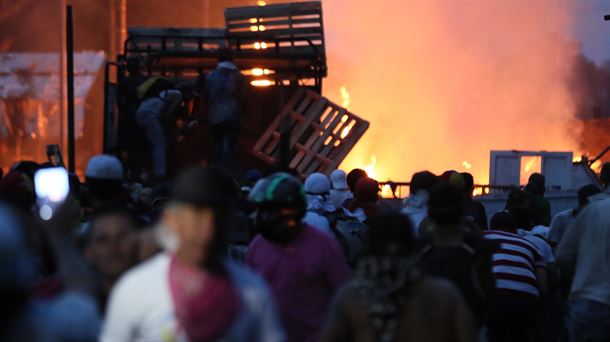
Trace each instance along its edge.
<path fill-rule="evenodd" d="M 50 220 L 70 193 L 68 171 L 63 167 L 40 169 L 34 175 L 34 188 L 38 198 L 38 213 L 43 220 Z"/>

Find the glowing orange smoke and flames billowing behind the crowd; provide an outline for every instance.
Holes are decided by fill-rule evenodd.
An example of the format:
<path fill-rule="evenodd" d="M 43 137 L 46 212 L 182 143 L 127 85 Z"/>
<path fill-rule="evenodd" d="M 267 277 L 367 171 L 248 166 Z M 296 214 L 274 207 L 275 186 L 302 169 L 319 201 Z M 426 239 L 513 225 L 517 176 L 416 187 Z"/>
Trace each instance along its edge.
<path fill-rule="evenodd" d="M 557 2 L 324 2 L 325 94 L 371 128 L 343 163 L 381 180 L 429 169 L 486 182 L 493 149 L 574 150 L 578 46 Z M 467 165 L 467 164 L 465 164 Z"/>

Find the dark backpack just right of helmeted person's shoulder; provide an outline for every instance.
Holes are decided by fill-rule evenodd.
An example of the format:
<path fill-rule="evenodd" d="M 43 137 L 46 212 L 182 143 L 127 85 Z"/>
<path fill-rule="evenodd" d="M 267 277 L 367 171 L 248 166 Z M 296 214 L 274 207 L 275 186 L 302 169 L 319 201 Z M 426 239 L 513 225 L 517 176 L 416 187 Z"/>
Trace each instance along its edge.
<path fill-rule="evenodd" d="M 326 217 L 330 230 L 343 250 L 345 260 L 354 265 L 358 256 L 368 247 L 368 226 L 346 215 L 341 209 L 331 213 L 316 213 Z"/>

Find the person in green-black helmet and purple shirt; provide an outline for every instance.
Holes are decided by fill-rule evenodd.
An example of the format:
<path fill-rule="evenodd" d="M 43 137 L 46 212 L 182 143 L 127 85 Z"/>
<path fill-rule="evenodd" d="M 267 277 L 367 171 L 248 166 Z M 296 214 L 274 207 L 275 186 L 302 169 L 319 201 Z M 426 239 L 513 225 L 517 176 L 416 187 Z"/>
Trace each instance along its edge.
<path fill-rule="evenodd" d="M 262 179 L 250 194 L 258 235 L 246 263 L 270 284 L 290 341 L 317 341 L 335 291 L 349 277 L 333 237 L 302 222 L 307 200 L 287 173 Z"/>

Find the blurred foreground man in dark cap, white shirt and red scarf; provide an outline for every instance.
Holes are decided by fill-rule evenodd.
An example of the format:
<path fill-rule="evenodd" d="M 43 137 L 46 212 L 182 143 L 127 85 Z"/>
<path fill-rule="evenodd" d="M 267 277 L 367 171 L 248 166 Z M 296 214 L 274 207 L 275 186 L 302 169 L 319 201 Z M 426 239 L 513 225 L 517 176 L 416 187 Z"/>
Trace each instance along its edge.
<path fill-rule="evenodd" d="M 284 340 L 264 281 L 225 258 L 234 188 L 214 168 L 178 178 L 163 214 L 175 246 L 119 280 L 102 341 Z"/>

